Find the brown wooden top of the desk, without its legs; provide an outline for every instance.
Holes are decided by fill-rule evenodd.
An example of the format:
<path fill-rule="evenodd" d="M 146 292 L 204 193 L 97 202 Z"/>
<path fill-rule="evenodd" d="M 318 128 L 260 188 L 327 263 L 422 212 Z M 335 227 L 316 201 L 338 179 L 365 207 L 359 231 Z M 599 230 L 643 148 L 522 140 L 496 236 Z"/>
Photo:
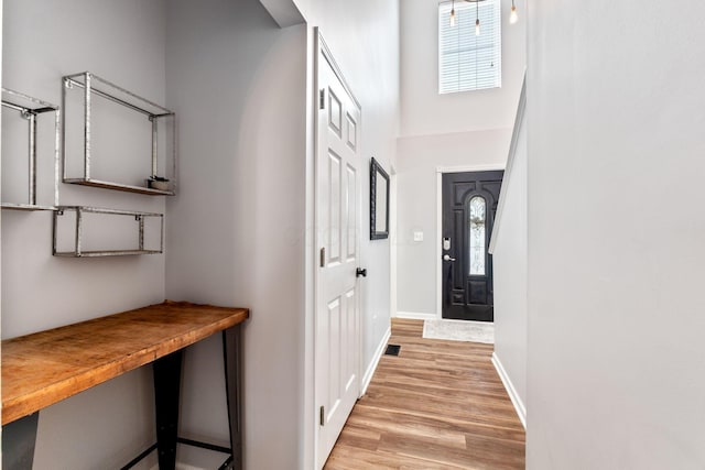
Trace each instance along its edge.
<path fill-rule="evenodd" d="M 245 321 L 246 308 L 151 305 L 2 341 L 2 425 Z"/>

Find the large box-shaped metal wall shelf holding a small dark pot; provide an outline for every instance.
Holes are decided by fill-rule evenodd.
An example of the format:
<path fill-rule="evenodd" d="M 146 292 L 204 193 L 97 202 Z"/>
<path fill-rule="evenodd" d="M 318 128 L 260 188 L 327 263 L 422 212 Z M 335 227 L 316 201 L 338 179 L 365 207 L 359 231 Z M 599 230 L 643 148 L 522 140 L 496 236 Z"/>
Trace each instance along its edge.
<path fill-rule="evenodd" d="M 68 175 L 66 151 L 66 139 L 64 139 L 64 161 L 63 161 L 63 182 L 76 185 L 93 186 L 105 189 L 116 189 L 129 193 L 139 193 L 151 196 L 173 196 L 176 194 L 176 144 L 175 144 L 175 113 L 164 107 L 161 107 L 148 99 L 139 97 L 131 91 L 126 90 L 104 78 L 98 77 L 90 72 L 67 75 L 63 77 L 64 86 L 62 92 L 62 107 L 66 110 L 67 92 L 74 88 L 83 89 L 83 174 Z M 143 114 L 150 121 L 151 127 L 151 174 L 142 175 L 141 178 L 132 178 L 131 182 L 112 182 L 106 181 L 105 177 L 96 178 L 93 175 L 93 166 L 95 166 L 95 149 L 91 142 L 91 132 L 95 122 L 94 119 L 94 100 L 100 97 L 107 101 L 122 106 L 138 114 Z M 64 113 L 64 136 L 66 135 L 67 118 Z M 162 133 L 160 134 L 160 128 Z M 167 135 L 171 133 L 171 139 Z M 127 138 L 127 136 L 126 136 Z M 161 143 L 161 145 L 160 145 Z M 160 159 L 160 153 L 162 157 Z M 145 168 L 148 167 L 145 162 Z M 164 174 L 159 174 L 163 172 Z M 166 189 L 156 189 L 150 186 L 149 177 L 159 176 L 169 178 L 169 187 Z M 139 183 L 138 183 L 139 179 Z M 142 185 L 144 182 L 144 185 Z"/>

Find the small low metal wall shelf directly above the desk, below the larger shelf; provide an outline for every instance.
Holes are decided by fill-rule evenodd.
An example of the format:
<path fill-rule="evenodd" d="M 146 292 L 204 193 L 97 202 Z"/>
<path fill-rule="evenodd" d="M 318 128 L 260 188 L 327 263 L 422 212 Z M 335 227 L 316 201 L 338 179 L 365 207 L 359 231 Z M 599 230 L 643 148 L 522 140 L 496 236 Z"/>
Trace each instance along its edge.
<path fill-rule="evenodd" d="M 75 232 L 73 240 L 73 249 L 70 250 L 59 250 L 58 249 L 58 223 L 59 218 L 66 214 L 66 211 L 75 212 Z M 86 214 L 99 214 L 99 215 L 108 215 L 108 216 L 131 216 L 134 217 L 137 221 L 137 231 L 138 231 L 138 247 L 137 248 L 126 248 L 126 249 L 106 249 L 106 250 L 95 250 L 95 249 L 85 249 L 84 242 L 84 231 L 85 231 L 85 215 Z M 159 236 L 159 249 L 156 248 L 147 248 L 144 240 L 144 221 L 147 218 L 159 218 L 160 219 L 160 236 Z M 53 249 L 52 254 L 54 256 L 65 256 L 65 258 L 98 258 L 98 256 L 123 256 L 123 255 L 133 255 L 133 254 L 160 254 L 164 252 L 164 215 L 155 214 L 155 212 L 140 212 L 133 210 L 120 210 L 120 209 L 105 209 L 98 207 L 87 207 L 87 206 L 58 206 L 56 211 L 54 212 L 54 227 L 53 227 Z"/>

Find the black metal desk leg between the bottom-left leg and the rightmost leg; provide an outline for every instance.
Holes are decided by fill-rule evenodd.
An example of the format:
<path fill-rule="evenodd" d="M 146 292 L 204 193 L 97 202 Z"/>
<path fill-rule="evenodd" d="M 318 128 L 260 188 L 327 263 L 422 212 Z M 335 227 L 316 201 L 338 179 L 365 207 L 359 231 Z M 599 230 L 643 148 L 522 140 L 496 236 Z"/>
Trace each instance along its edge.
<path fill-rule="evenodd" d="M 160 470 L 174 470 L 176 467 L 182 356 L 182 351 L 178 350 L 152 363 Z"/>

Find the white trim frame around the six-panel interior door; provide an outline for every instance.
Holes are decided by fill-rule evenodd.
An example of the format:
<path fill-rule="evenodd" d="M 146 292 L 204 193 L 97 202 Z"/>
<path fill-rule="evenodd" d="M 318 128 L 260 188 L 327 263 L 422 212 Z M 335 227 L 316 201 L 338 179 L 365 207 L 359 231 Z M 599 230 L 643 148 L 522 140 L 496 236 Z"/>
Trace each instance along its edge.
<path fill-rule="evenodd" d="M 0 0 L 1 1 L 1 0 Z M 325 59 L 328 62 L 328 64 L 330 65 L 330 68 L 333 68 L 333 72 L 335 73 L 336 77 L 340 80 L 340 84 L 343 85 L 343 88 L 345 89 L 345 91 L 350 96 L 350 98 L 354 101 L 354 105 L 358 108 L 358 110 L 360 111 L 360 117 L 358 120 L 358 144 L 360 145 L 360 151 L 359 151 L 359 156 L 360 156 L 360 177 L 365 177 L 365 168 L 368 168 L 369 165 L 366 164 L 366 162 L 364 161 L 364 156 L 362 156 L 362 151 L 361 151 L 361 145 L 362 145 L 362 127 L 364 127 L 364 118 L 362 118 L 362 106 L 360 105 L 360 102 L 358 101 L 357 97 L 355 96 L 355 94 L 352 92 L 352 89 L 350 88 L 348 81 L 345 78 L 345 75 L 343 74 L 343 70 L 340 69 L 340 67 L 338 66 L 338 63 L 335 61 L 335 57 L 333 56 L 333 53 L 330 52 L 330 48 L 328 47 L 328 45 L 326 44 L 323 34 L 321 33 L 321 29 L 318 26 L 315 26 L 313 29 L 313 70 L 312 70 L 312 92 L 313 92 L 313 108 L 312 108 L 312 121 L 311 125 L 313 125 L 313 212 L 312 212 L 312 219 L 313 219 L 313 233 L 312 236 L 312 243 L 313 245 L 312 248 L 312 256 L 310 256 L 308 259 L 308 263 L 310 266 L 312 266 L 312 271 L 313 271 L 313 298 L 312 298 L 312 321 L 311 321 L 311 328 L 312 328 L 312 334 L 308 337 L 310 339 L 306 342 L 306 350 L 310 351 L 311 353 L 311 378 L 310 378 L 310 382 L 308 382 L 308 386 L 311 390 L 311 396 L 304 396 L 304 400 L 306 403 L 311 403 L 311 408 L 308 408 L 307 406 L 304 405 L 304 411 L 308 411 L 311 409 L 311 416 L 307 416 L 304 419 L 304 423 L 310 423 L 311 427 L 305 426 L 304 429 L 304 441 L 308 440 L 310 441 L 310 446 L 311 449 L 313 450 L 311 458 L 308 458 L 307 451 L 304 450 L 304 462 L 311 462 L 311 468 L 315 468 L 318 461 L 318 452 L 321 449 L 318 449 L 318 433 L 319 433 L 319 425 L 318 425 L 318 413 L 317 413 L 317 406 L 318 406 L 318 390 L 317 390 L 317 380 L 318 380 L 318 364 L 316 363 L 316 345 L 317 345 L 317 337 L 316 337 L 316 324 L 317 324 L 317 318 L 318 318 L 318 292 L 319 292 L 319 270 L 318 270 L 318 263 L 319 263 L 319 259 L 318 259 L 318 247 L 321 245 L 319 243 L 319 234 L 318 234 L 318 219 L 317 219 L 317 208 L 318 208 L 318 201 L 317 201 L 317 193 L 316 193 L 316 174 L 317 174 L 317 164 L 318 164 L 318 89 L 319 89 L 319 83 L 318 83 L 318 66 L 319 66 L 319 57 L 321 55 L 323 55 L 325 57 Z M 368 175 L 369 177 L 369 175 Z M 365 265 L 365 255 L 364 255 L 364 243 L 362 243 L 362 237 L 365 236 L 362 232 L 362 212 L 366 211 L 365 206 L 362 205 L 364 201 L 364 197 L 362 197 L 362 186 L 361 186 L 361 179 L 360 179 L 360 190 L 358 192 L 357 198 L 358 198 L 358 207 L 359 210 L 357 211 L 357 219 L 358 219 L 358 226 L 359 226 L 359 233 L 358 233 L 358 243 L 359 243 L 359 259 L 358 259 L 358 265 L 364 266 Z M 369 211 L 369 207 L 367 209 L 367 211 Z M 368 215 L 369 218 L 369 215 Z M 357 338 L 357 353 L 359 357 L 358 360 L 358 380 L 359 380 L 359 389 L 357 391 L 358 394 L 358 398 L 360 397 L 361 391 L 362 391 L 362 378 L 364 378 L 364 373 L 365 373 L 365 364 L 362 363 L 362 356 L 364 356 L 364 351 L 362 351 L 362 345 L 364 345 L 364 329 L 362 329 L 362 325 L 364 325 L 364 307 L 365 307 L 365 302 L 362 296 L 365 295 L 365 288 L 361 285 L 362 283 L 360 282 L 360 278 L 357 277 L 357 288 L 358 292 L 360 293 L 360 295 L 358 296 L 358 319 L 357 319 L 357 329 L 358 329 L 358 338 Z M 304 386 L 304 389 L 306 389 Z M 308 420 L 311 419 L 311 420 Z M 311 431 L 308 431 L 308 429 L 311 429 Z M 311 434 L 308 434 L 311 433 Z M 306 435 L 310 436 L 310 438 L 306 438 Z"/>

